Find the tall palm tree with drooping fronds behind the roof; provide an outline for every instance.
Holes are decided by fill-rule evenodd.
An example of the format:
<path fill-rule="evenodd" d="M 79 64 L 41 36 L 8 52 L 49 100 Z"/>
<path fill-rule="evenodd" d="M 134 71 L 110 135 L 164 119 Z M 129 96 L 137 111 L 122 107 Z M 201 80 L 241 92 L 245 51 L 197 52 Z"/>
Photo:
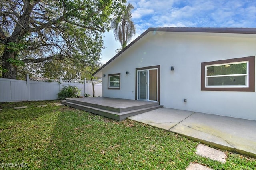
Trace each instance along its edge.
<path fill-rule="evenodd" d="M 134 9 L 132 4 L 128 4 L 126 10 L 121 16 L 115 17 L 111 22 L 111 28 L 114 30 L 115 39 L 118 40 L 122 49 L 126 47 L 127 42 L 135 35 L 135 25 L 132 22 L 131 10 Z"/>

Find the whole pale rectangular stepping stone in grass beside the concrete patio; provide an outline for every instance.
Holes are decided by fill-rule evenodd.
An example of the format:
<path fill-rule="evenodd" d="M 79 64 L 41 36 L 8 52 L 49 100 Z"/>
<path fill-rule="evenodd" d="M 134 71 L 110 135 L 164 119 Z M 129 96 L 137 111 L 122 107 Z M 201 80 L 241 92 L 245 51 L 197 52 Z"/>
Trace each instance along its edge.
<path fill-rule="evenodd" d="M 212 160 L 220 161 L 222 163 L 226 162 L 226 154 L 220 150 L 210 148 L 209 146 L 205 146 L 202 144 L 199 144 L 196 148 L 196 154 L 210 158 Z"/>

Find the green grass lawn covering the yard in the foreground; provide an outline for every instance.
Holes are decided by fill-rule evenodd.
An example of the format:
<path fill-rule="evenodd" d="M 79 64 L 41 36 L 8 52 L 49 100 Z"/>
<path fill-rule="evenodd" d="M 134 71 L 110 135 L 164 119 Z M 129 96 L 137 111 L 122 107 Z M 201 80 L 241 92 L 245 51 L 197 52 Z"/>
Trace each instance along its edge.
<path fill-rule="evenodd" d="M 29 169 L 182 170 L 190 162 L 214 170 L 256 167 L 255 159 L 231 152 L 224 164 L 198 156 L 199 142 L 172 132 L 55 103 L 59 101 L 1 103 L 1 168 L 24 163 Z M 14 110 L 17 106 L 28 108 Z"/>

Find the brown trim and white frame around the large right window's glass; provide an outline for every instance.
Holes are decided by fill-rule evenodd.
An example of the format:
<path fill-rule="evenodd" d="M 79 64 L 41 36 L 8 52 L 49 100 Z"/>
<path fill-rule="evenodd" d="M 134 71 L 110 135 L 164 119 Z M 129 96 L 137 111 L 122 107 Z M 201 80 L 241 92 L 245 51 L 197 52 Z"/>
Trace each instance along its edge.
<path fill-rule="evenodd" d="M 247 82 L 246 86 L 206 86 L 206 67 L 219 66 L 236 63 L 247 63 Z M 230 75 L 229 75 L 230 76 Z M 243 91 L 255 92 L 255 56 L 233 58 L 228 60 L 218 60 L 212 62 L 201 63 L 201 91 Z"/>

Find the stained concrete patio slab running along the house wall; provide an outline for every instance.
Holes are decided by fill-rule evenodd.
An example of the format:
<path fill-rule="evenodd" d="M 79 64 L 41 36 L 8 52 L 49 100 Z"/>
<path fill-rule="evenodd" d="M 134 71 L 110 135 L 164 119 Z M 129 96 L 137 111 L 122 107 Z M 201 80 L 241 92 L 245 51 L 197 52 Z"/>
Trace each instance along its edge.
<path fill-rule="evenodd" d="M 170 108 L 131 116 L 201 143 L 256 158 L 256 121 Z"/>

